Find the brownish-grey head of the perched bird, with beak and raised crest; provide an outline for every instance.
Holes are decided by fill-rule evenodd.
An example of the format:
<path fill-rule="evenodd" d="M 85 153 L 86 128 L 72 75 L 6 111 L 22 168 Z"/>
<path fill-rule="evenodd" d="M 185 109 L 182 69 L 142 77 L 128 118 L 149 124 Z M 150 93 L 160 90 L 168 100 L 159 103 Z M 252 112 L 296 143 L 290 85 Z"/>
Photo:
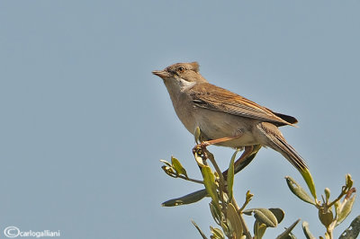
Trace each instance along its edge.
<path fill-rule="evenodd" d="M 199 73 L 199 64 L 197 62 L 191 63 L 176 63 L 167 66 L 164 70 L 153 71 L 152 74 L 161 77 L 164 83 L 169 81 L 176 81 L 178 83 L 203 83 L 207 82 Z"/>

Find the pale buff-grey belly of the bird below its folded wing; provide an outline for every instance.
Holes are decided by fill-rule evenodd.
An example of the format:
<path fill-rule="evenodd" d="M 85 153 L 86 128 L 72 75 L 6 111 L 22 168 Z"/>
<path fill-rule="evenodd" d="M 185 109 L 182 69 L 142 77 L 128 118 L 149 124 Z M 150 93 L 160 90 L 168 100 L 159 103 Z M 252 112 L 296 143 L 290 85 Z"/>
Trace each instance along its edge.
<path fill-rule="evenodd" d="M 195 119 L 196 126 L 209 139 L 234 137 L 234 139 L 217 144 L 218 146 L 240 147 L 258 144 L 257 138 L 253 134 L 253 126 L 259 120 L 210 110 L 198 111 Z"/>

